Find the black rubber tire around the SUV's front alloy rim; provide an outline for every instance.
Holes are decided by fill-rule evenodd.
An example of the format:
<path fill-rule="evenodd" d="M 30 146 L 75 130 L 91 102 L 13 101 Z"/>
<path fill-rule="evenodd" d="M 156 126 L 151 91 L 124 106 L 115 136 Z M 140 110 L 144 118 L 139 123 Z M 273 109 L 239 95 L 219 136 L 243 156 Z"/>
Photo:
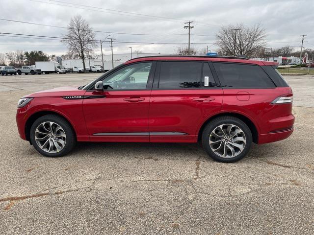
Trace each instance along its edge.
<path fill-rule="evenodd" d="M 56 124 L 58 124 L 59 126 L 62 127 L 62 129 L 64 130 L 65 132 L 65 135 L 66 135 L 66 142 L 65 142 L 65 145 L 64 147 L 61 149 L 60 152 L 56 152 L 56 153 L 49 153 L 49 152 L 46 152 L 44 150 L 42 150 L 37 142 L 35 141 L 35 131 L 36 131 L 36 128 L 43 122 L 45 121 L 53 121 L 55 122 Z M 52 157 L 52 158 L 55 158 L 55 157 L 62 157 L 64 155 L 66 155 L 67 153 L 69 153 L 73 147 L 75 146 L 76 144 L 76 137 L 75 137 L 75 133 L 70 125 L 70 123 L 58 116 L 58 115 L 53 115 L 53 114 L 49 114 L 49 115 L 45 115 L 45 116 L 42 116 L 38 119 L 36 119 L 34 121 L 34 123 L 32 124 L 31 128 L 30 128 L 30 141 L 31 143 L 33 144 L 33 146 L 35 147 L 35 149 L 42 155 L 46 156 L 46 157 Z"/>

